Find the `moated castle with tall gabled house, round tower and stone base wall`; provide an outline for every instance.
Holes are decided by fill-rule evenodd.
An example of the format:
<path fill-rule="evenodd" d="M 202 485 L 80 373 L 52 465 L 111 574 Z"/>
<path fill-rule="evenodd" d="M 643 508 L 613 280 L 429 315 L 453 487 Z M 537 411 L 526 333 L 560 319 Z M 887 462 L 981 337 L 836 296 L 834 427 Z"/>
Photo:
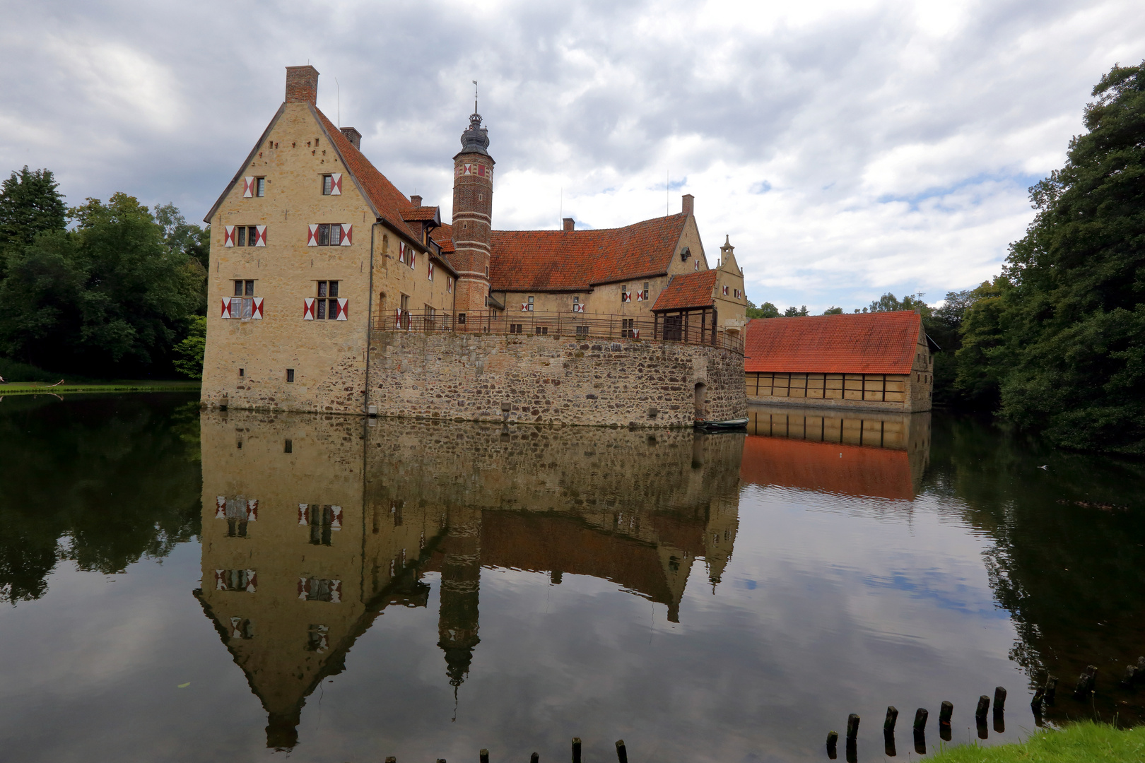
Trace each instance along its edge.
<path fill-rule="evenodd" d="M 313 66 L 286 67 L 285 102 L 206 216 L 207 407 L 645 426 L 743 415 L 743 272 L 728 241 L 709 267 L 692 196 L 624 228 L 493 230 L 474 103 L 443 222 L 317 109 L 317 86 Z M 395 336 L 431 332 L 450 337 Z M 601 364 L 619 383 L 602 390 Z"/>

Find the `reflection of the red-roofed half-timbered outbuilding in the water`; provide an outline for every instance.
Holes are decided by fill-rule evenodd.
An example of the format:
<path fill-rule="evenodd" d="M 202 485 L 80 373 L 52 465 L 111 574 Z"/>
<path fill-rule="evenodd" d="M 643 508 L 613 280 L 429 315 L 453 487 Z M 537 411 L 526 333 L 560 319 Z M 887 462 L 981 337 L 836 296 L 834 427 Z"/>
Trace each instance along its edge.
<path fill-rule="evenodd" d="M 911 500 L 930 462 L 929 411 L 750 405 L 748 416 L 747 483 Z"/>

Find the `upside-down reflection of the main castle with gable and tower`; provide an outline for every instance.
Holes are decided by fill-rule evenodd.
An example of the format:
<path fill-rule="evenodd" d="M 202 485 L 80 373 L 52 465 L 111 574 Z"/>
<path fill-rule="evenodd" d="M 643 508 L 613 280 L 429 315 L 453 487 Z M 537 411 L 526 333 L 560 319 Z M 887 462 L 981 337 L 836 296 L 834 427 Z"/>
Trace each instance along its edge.
<path fill-rule="evenodd" d="M 742 435 L 203 414 L 196 591 L 292 747 L 306 698 L 387 606 L 427 606 L 464 682 L 482 566 L 610 580 L 679 619 L 693 564 L 716 586 L 739 526 Z"/>

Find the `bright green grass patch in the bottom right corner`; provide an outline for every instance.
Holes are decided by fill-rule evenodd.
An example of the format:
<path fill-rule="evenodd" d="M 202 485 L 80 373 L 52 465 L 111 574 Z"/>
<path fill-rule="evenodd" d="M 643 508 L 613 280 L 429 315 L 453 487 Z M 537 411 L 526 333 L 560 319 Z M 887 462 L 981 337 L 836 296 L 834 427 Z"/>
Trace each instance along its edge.
<path fill-rule="evenodd" d="M 960 745 L 935 753 L 935 763 L 1105 763 L 1145 761 L 1145 726 L 1114 729 L 1106 723 L 1079 721 L 1063 729 L 1040 729 L 1013 745 Z"/>

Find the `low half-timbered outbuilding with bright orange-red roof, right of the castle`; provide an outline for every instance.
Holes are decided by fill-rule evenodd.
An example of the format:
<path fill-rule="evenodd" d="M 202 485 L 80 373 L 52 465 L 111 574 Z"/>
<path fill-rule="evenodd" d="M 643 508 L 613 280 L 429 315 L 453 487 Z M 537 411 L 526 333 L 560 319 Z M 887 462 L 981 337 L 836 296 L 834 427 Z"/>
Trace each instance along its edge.
<path fill-rule="evenodd" d="M 930 411 L 939 348 L 909 310 L 748 321 L 752 403 Z"/>

